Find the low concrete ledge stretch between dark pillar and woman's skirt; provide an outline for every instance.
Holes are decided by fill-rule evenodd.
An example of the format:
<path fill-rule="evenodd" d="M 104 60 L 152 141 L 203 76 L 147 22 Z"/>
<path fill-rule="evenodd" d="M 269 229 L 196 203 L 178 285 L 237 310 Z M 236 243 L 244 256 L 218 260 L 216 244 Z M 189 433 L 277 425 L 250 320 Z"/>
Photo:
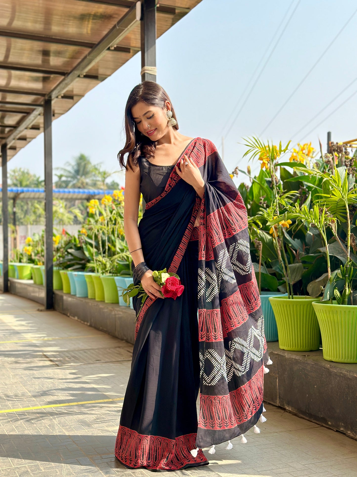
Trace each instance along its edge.
<path fill-rule="evenodd" d="M 134 344 L 135 311 L 104 301 L 78 298 L 60 290 L 54 291 L 54 308 L 71 318 Z"/>

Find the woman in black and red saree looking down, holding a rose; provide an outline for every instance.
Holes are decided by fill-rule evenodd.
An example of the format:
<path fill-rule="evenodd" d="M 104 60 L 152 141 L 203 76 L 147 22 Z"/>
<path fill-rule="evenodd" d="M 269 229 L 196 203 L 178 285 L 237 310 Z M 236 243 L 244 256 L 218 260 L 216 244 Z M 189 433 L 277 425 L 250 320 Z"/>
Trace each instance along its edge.
<path fill-rule="evenodd" d="M 263 411 L 268 356 L 247 211 L 215 146 L 178 133 L 159 84 L 132 90 L 125 131 L 118 155 L 125 236 L 134 284 L 141 281 L 148 298 L 141 310 L 141 299 L 133 300 L 136 339 L 115 456 L 154 471 L 206 465 L 203 447 L 212 454 L 228 441 L 231 448 L 229 439 Z M 176 300 L 164 299 L 152 278 L 164 268 L 185 286 Z"/>

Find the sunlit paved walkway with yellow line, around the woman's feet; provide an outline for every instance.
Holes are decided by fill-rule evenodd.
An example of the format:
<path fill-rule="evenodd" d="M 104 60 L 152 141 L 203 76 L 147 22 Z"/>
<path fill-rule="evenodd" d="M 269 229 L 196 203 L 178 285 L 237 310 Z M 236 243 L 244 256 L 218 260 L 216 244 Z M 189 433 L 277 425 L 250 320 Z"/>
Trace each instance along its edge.
<path fill-rule="evenodd" d="M 152 475 L 113 456 L 132 346 L 39 308 L 0 294 L 0 476 Z M 356 441 L 265 407 L 247 444 L 206 449 L 209 466 L 175 475 L 357 477 Z"/>

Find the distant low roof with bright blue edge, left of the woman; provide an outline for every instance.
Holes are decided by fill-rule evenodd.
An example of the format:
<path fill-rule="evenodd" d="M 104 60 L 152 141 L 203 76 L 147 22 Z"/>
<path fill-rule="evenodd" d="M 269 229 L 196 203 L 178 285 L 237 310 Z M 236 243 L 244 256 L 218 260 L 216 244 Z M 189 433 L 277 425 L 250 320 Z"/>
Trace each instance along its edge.
<path fill-rule="evenodd" d="M 0 187 L 0 192 L 2 188 Z M 99 199 L 104 194 L 112 194 L 113 190 L 102 189 L 53 189 L 53 197 L 64 200 L 90 200 Z M 24 199 L 24 200 L 44 200 L 45 189 L 38 189 L 33 187 L 9 187 L 9 199 Z"/>

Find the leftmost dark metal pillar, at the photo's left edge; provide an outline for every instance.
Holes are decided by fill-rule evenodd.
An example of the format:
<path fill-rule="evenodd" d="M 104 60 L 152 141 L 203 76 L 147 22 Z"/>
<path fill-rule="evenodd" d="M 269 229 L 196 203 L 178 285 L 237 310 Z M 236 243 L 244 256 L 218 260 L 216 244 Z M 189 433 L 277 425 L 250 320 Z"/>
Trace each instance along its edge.
<path fill-rule="evenodd" d="M 3 291 L 9 291 L 9 210 L 8 210 L 8 149 L 1 145 L 1 172 L 2 172 L 2 279 Z"/>

